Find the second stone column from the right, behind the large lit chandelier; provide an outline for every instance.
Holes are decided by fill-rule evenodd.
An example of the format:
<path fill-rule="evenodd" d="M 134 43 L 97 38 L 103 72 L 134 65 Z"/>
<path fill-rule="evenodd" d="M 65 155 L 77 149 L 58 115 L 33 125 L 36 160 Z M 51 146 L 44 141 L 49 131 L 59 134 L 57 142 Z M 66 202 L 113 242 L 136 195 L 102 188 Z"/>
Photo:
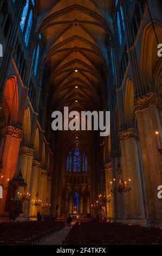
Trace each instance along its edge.
<path fill-rule="evenodd" d="M 137 145 L 138 132 L 135 131 L 135 129 L 128 129 L 120 132 L 119 136 L 123 164 L 123 179 L 126 182 L 126 187 L 131 187 L 131 191 L 125 193 L 126 218 L 133 220 L 135 223 L 143 221 L 145 224 L 144 199 Z"/>

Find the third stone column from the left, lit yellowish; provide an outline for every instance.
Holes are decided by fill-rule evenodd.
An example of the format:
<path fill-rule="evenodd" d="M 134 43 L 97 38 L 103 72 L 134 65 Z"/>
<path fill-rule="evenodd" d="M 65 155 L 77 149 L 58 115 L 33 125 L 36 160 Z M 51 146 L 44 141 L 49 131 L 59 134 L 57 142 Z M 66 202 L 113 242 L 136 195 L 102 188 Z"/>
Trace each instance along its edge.
<path fill-rule="evenodd" d="M 36 217 L 38 207 L 32 205 L 36 200 L 36 193 L 38 192 L 39 177 L 41 173 L 42 162 L 40 160 L 33 160 L 33 169 L 31 175 L 31 186 L 30 186 L 30 217 Z"/>

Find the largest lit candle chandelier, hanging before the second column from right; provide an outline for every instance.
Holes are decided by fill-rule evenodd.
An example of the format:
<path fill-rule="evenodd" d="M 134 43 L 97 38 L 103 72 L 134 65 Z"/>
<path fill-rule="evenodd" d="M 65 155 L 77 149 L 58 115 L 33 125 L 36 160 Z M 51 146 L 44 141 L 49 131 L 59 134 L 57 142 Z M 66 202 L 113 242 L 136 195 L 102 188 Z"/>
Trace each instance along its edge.
<path fill-rule="evenodd" d="M 120 164 L 118 164 L 117 172 L 118 172 L 118 184 L 116 186 L 115 179 L 113 180 L 113 182 L 111 181 L 111 185 L 114 184 L 114 189 L 112 189 L 111 192 L 112 193 L 119 192 L 121 194 L 121 193 L 126 193 L 126 192 L 131 191 L 131 187 L 126 187 L 127 182 L 124 181 L 124 179 L 122 179 L 122 175 L 121 175 L 122 169 L 121 169 Z M 131 179 L 129 179 L 128 181 L 131 182 Z"/>

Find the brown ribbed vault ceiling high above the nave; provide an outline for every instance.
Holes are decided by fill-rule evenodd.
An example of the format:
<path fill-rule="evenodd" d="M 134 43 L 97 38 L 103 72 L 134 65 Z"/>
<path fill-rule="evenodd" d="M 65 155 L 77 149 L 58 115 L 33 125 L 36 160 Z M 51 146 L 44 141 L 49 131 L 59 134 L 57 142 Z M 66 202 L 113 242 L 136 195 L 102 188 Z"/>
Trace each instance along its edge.
<path fill-rule="evenodd" d="M 46 70 L 45 86 L 52 111 L 63 111 L 64 106 L 68 106 L 69 111 L 79 112 L 106 107 L 107 44 L 108 36 L 113 34 L 113 2 L 38 1 L 37 35 L 41 33 L 43 39 L 41 65 Z M 60 133 L 67 150 L 76 142 L 84 147 L 92 145 L 92 132 Z"/>

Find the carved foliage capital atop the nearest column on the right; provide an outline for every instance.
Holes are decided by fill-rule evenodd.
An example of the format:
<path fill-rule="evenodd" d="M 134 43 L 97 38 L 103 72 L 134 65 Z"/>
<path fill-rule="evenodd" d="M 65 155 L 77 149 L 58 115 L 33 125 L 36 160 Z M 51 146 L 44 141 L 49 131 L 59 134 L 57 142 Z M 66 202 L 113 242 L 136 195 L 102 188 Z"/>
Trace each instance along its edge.
<path fill-rule="evenodd" d="M 160 105 L 161 105 L 161 101 L 155 93 L 148 93 L 145 96 L 142 96 L 134 100 L 135 112 L 141 111 L 150 106 L 158 107 Z"/>

